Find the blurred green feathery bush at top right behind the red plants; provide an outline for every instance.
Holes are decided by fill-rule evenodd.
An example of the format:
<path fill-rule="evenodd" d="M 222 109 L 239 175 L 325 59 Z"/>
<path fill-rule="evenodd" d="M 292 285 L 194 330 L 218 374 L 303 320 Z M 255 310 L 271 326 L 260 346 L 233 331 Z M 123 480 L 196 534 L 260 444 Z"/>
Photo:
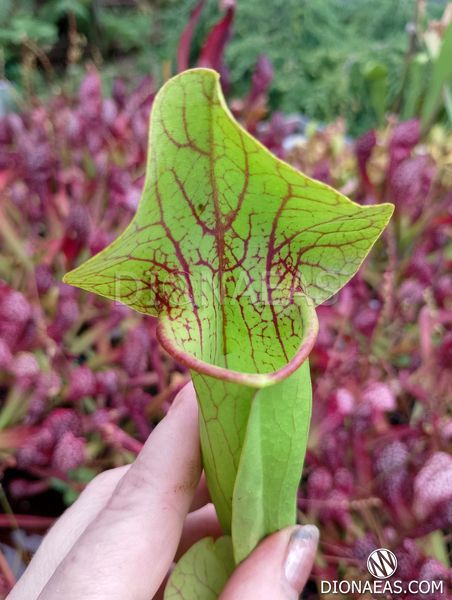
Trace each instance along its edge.
<path fill-rule="evenodd" d="M 426 24 L 441 16 L 444 4 L 426 3 L 419 22 L 420 48 Z M 325 123 L 342 116 L 352 135 L 383 125 L 401 94 L 410 40 L 407 28 L 415 7 L 414 0 L 237 2 L 234 36 L 226 49 L 232 93 L 246 92 L 257 56 L 265 49 L 274 67 L 272 109 L 301 112 Z M 215 9 L 216 3 L 207 4 L 195 37 L 198 47 L 217 18 Z M 167 33 L 158 52 L 170 59 L 180 12 L 169 6 L 161 11 L 161 19 Z"/>

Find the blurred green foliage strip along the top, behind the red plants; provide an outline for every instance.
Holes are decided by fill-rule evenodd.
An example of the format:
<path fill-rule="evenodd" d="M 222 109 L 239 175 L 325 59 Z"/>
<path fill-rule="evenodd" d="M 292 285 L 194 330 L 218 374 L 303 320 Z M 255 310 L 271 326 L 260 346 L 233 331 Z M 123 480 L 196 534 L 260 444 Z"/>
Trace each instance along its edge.
<path fill-rule="evenodd" d="M 430 0 L 422 14 L 415 11 L 419 4 L 240 0 L 226 50 L 231 93 L 245 94 L 264 50 L 274 66 L 271 109 L 322 122 L 342 116 L 355 135 L 382 125 L 388 111 L 404 118 L 420 116 L 429 89 L 432 99 L 426 106 L 434 107 L 429 119 L 440 118 L 448 96 L 438 82 L 450 61 L 444 58 L 439 61 L 443 67 L 434 67 L 438 48 L 432 53 L 424 33 L 445 3 Z M 47 93 L 49 82 L 59 82 L 63 73 L 78 79 L 85 59 L 102 62 L 107 79 L 152 70 L 161 80 L 162 71 L 165 77 L 174 72 L 179 37 L 195 5 L 196 0 L 120 0 L 114 6 L 93 0 L 3 0 L 4 71 L 10 80 L 39 93 Z M 411 38 L 406 29 L 416 19 L 415 51 L 407 53 Z M 193 56 L 217 20 L 218 3 L 210 0 L 195 32 Z"/>

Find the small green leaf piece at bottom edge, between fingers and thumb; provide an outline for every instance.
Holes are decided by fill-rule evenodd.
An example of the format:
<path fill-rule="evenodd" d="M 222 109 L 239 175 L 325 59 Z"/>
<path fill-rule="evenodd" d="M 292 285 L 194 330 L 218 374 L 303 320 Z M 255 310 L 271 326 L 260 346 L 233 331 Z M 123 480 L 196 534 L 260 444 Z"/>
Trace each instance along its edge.
<path fill-rule="evenodd" d="M 204 538 L 184 554 L 171 573 L 165 600 L 216 600 L 234 570 L 230 537 Z"/>

